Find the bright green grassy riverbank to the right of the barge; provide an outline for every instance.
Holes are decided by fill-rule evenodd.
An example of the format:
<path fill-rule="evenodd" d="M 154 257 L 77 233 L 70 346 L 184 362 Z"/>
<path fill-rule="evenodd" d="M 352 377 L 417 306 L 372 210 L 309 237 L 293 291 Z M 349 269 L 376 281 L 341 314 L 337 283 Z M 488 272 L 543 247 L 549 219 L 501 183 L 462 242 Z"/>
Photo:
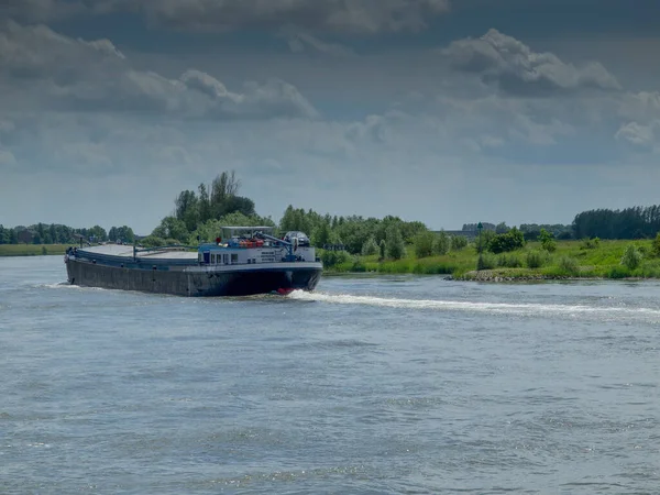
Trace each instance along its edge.
<path fill-rule="evenodd" d="M 639 266 L 622 264 L 628 245 L 641 254 Z M 528 256 L 541 258 L 541 266 L 530 268 Z M 378 256 L 349 256 L 349 261 L 327 268 L 328 273 L 443 274 L 460 279 L 538 279 L 538 278 L 660 278 L 660 258 L 651 255 L 651 241 L 600 241 L 587 246 L 584 241 L 560 241 L 548 253 L 540 242 L 504 254 L 485 253 L 490 270 L 477 272 L 479 254 L 474 245 L 441 256 L 416 258 L 414 248 L 397 261 L 378 261 Z"/>

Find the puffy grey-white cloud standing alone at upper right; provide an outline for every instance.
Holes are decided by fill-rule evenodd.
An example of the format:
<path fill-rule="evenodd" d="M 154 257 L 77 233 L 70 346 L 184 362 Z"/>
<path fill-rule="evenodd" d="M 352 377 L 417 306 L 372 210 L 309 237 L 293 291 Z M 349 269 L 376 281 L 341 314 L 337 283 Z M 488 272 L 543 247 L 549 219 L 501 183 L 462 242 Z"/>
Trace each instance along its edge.
<path fill-rule="evenodd" d="M 497 30 L 480 38 L 464 38 L 442 51 L 453 68 L 479 74 L 512 95 L 556 95 L 580 89 L 619 90 L 616 78 L 597 62 L 582 67 L 562 62 L 552 53 L 536 53 Z"/>

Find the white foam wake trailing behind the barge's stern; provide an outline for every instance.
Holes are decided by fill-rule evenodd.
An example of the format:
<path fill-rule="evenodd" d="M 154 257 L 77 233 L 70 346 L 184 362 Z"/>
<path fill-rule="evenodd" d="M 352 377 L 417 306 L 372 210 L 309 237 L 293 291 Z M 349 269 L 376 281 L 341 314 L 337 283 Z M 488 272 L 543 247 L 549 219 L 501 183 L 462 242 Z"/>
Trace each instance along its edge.
<path fill-rule="evenodd" d="M 438 309 L 464 310 L 503 314 L 600 314 L 626 316 L 656 316 L 660 318 L 660 310 L 651 308 L 622 308 L 595 307 L 582 305 L 543 305 L 543 304 L 508 304 L 508 302 L 474 302 L 462 300 L 431 300 L 431 299 L 395 299 L 373 296 L 352 296 L 348 294 L 305 293 L 296 290 L 288 296 L 290 299 L 312 300 L 340 305 L 381 306 L 387 308 L 409 309 Z"/>

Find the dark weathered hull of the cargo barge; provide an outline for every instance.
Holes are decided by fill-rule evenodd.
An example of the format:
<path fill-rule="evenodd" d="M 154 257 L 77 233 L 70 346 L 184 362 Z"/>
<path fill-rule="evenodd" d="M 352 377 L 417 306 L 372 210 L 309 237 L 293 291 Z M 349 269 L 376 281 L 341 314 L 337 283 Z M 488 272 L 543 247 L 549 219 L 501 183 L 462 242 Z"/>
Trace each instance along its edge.
<path fill-rule="evenodd" d="M 319 266 L 237 272 L 139 270 L 77 260 L 68 260 L 66 271 L 73 285 L 195 297 L 314 290 L 322 273 Z"/>

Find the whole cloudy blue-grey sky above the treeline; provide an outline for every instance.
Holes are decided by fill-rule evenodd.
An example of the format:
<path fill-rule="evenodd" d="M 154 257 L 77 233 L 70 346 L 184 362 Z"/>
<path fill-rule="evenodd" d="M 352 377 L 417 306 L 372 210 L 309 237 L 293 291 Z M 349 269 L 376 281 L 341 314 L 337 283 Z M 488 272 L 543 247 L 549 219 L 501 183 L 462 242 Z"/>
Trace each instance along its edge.
<path fill-rule="evenodd" d="M 660 204 L 657 0 L 0 0 L 0 223 Z"/>

